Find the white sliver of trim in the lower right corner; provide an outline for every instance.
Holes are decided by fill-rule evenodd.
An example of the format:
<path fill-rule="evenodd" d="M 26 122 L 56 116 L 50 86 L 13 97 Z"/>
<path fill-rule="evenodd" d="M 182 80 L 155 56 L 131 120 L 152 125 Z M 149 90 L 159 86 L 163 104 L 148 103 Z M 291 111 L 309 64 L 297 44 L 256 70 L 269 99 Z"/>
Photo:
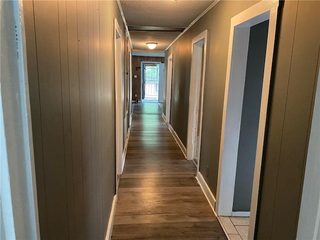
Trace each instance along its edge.
<path fill-rule="evenodd" d="M 319 75 L 320 76 L 320 75 Z M 320 239 L 320 77 L 315 93 L 296 239 Z"/>

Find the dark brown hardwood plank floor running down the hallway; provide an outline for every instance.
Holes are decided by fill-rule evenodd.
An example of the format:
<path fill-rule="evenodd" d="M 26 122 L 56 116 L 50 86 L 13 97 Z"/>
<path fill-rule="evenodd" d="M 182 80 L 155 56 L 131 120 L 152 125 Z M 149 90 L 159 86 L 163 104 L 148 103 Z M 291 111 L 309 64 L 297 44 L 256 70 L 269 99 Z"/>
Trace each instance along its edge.
<path fill-rule="evenodd" d="M 157 103 L 134 106 L 112 238 L 226 239 Z"/>

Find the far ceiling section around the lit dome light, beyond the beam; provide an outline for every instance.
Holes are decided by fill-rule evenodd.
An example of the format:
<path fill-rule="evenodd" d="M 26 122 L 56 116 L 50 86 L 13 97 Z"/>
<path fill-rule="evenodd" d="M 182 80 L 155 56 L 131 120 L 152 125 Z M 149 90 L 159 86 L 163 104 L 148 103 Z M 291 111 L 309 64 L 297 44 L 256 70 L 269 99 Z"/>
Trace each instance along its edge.
<path fill-rule="evenodd" d="M 145 42 L 158 42 L 154 50 L 165 50 L 178 34 L 176 31 L 130 31 L 133 49 L 141 50 L 149 50 Z"/>

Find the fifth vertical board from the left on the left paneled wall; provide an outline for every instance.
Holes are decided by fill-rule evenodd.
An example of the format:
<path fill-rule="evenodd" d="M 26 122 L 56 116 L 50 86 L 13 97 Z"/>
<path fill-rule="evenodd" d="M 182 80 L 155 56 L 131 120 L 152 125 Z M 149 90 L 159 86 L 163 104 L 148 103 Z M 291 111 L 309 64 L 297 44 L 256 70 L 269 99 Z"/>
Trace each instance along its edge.
<path fill-rule="evenodd" d="M 90 124 L 90 85 L 88 57 L 88 1 L 77 1 L 78 65 L 81 118 L 82 184 L 84 209 L 84 238 L 93 238 L 92 159 Z"/>

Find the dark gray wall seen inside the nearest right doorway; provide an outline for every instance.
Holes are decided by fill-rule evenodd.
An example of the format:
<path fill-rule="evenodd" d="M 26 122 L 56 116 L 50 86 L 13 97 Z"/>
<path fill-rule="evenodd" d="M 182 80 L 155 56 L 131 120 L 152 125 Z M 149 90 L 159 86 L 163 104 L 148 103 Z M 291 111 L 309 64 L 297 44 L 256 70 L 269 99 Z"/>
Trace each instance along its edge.
<path fill-rule="evenodd" d="M 250 27 L 233 211 L 250 211 L 268 24 Z"/>

